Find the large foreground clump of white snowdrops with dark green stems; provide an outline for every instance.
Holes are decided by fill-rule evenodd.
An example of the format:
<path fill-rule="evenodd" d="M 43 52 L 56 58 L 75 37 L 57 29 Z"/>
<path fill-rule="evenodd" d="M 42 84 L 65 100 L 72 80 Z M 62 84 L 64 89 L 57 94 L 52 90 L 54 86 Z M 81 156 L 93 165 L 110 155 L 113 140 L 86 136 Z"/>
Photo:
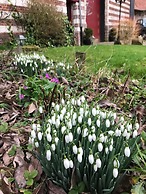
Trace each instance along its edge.
<path fill-rule="evenodd" d="M 32 124 L 30 143 L 48 178 L 66 192 L 84 182 L 86 192 L 111 194 L 132 160 L 138 128 L 81 96 L 52 103 L 51 113 Z"/>

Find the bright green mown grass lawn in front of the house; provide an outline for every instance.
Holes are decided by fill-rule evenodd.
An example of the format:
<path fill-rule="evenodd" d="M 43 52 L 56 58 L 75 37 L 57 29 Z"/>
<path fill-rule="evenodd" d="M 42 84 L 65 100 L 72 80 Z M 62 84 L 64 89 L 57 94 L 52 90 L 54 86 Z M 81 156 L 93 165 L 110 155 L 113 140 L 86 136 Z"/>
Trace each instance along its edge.
<path fill-rule="evenodd" d="M 146 47 L 139 45 L 96 45 L 47 48 L 43 53 L 55 61 L 74 63 L 75 52 L 85 52 L 85 65 L 90 73 L 99 68 L 123 69 L 133 78 L 146 79 Z"/>

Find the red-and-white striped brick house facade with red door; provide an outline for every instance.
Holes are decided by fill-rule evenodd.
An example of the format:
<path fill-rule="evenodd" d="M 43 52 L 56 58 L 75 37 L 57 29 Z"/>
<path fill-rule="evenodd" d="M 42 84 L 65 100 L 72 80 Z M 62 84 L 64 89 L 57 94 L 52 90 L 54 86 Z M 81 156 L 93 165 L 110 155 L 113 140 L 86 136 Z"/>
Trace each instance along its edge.
<path fill-rule="evenodd" d="M 47 3 L 47 0 L 42 0 Z M 122 3 L 121 19 L 128 19 L 134 7 L 134 0 Z M 27 7 L 27 0 L 10 0 L 17 10 L 22 12 Z M 9 14 L 11 10 L 9 0 L 0 0 L 0 38 L 8 34 L 8 26 L 17 35 L 22 33 L 21 27 L 15 25 Z M 97 41 L 108 41 L 109 30 L 119 22 L 119 3 L 115 0 L 56 0 L 58 11 L 66 14 L 74 26 L 76 44 L 81 44 L 81 33 L 88 27 L 93 30 Z M 7 18 L 5 19 L 5 17 Z"/>

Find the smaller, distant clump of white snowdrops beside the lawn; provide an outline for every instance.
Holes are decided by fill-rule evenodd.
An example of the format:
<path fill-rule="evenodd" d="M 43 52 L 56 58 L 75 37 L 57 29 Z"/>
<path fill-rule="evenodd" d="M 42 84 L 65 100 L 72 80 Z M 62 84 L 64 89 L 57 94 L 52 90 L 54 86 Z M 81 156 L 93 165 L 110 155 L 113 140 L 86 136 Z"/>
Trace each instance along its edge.
<path fill-rule="evenodd" d="M 44 55 L 34 54 L 19 54 L 15 55 L 13 63 L 17 66 L 20 72 L 27 76 L 41 74 L 42 72 L 55 71 L 59 76 L 65 71 L 72 68 L 71 65 L 65 65 L 62 62 L 55 63 L 53 60 L 48 60 Z"/>

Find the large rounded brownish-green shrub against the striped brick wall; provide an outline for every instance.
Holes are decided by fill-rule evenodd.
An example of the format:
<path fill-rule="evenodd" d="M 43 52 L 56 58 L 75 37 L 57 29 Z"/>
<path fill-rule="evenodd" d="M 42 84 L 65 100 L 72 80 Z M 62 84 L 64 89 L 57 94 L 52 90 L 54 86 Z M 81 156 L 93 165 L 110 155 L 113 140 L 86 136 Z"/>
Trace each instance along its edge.
<path fill-rule="evenodd" d="M 23 26 L 29 44 L 39 46 L 71 44 L 68 37 L 72 34 L 67 31 L 69 23 L 52 4 L 31 1 L 22 15 L 18 14 L 14 17 L 17 23 Z"/>

